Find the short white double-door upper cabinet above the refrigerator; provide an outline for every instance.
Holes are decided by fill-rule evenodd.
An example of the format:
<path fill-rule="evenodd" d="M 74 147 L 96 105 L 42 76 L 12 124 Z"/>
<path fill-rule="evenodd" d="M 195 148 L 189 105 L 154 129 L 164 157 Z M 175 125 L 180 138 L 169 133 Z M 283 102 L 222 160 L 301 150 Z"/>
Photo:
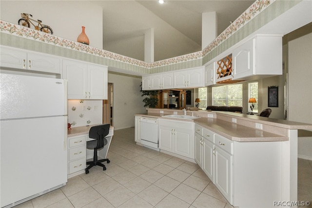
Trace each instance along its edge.
<path fill-rule="evenodd" d="M 60 74 L 59 57 L 1 46 L 0 66 Z"/>

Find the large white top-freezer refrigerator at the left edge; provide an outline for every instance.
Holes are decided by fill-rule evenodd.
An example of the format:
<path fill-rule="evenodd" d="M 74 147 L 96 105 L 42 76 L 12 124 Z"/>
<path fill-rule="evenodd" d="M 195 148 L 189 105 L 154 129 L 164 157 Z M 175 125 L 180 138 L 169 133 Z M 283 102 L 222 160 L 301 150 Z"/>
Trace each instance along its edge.
<path fill-rule="evenodd" d="M 67 82 L 0 73 L 0 205 L 67 182 Z"/>

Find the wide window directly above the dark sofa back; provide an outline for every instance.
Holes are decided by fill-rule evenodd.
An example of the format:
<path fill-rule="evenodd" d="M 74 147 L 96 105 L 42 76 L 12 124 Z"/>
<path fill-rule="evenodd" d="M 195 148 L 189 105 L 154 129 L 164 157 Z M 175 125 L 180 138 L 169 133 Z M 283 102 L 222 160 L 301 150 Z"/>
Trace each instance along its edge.
<path fill-rule="evenodd" d="M 243 106 L 243 84 L 213 87 L 213 105 Z"/>

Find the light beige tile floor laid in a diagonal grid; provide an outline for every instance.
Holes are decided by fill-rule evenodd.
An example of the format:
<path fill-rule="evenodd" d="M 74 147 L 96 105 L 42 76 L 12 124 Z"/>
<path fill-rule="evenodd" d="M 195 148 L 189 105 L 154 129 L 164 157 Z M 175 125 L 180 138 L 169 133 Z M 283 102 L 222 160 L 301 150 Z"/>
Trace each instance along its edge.
<path fill-rule="evenodd" d="M 108 158 L 107 170 L 93 167 L 16 208 L 232 207 L 196 164 L 136 145 L 134 128 L 115 130 Z M 298 200 L 312 201 L 312 161 L 298 164 Z"/>

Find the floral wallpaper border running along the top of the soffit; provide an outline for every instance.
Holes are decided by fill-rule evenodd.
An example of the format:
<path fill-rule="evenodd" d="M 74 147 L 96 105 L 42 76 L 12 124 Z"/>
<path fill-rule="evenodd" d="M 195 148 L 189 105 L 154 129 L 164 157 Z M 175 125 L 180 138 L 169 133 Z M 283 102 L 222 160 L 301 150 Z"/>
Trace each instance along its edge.
<path fill-rule="evenodd" d="M 166 66 L 166 65 L 175 64 L 175 63 L 202 59 L 204 56 L 210 53 L 213 49 L 215 49 L 218 45 L 220 45 L 227 38 L 229 38 L 238 29 L 240 29 L 247 22 L 249 22 L 255 16 L 257 16 L 261 11 L 267 8 L 273 1 L 275 0 L 255 1 L 239 18 L 237 18 L 228 28 L 226 28 L 213 42 L 211 42 L 206 48 L 204 48 L 203 51 L 198 51 L 195 53 L 190 53 L 187 55 L 182 55 L 182 56 L 178 56 L 178 57 L 174 57 L 174 58 L 170 58 L 166 60 L 161 60 L 157 62 L 152 62 L 152 63 L 143 62 L 137 59 L 122 56 L 113 52 L 95 48 L 95 47 L 85 45 L 79 42 L 67 40 L 64 38 L 60 38 L 54 35 L 43 33 L 38 30 L 34 30 L 28 27 L 23 27 L 23 26 L 9 23 L 9 22 L 2 21 L 2 20 L 0 20 L 0 32 L 20 36 L 23 38 L 27 38 L 27 39 L 31 39 L 31 40 L 35 40 L 39 42 L 45 42 L 45 43 L 57 45 L 60 47 L 70 48 L 72 50 L 88 53 L 91 55 L 97 55 L 97 56 L 111 59 L 114 61 L 129 63 L 129 64 L 133 64 L 136 66 L 141 66 L 141 67 L 151 69 L 151 68 Z"/>

